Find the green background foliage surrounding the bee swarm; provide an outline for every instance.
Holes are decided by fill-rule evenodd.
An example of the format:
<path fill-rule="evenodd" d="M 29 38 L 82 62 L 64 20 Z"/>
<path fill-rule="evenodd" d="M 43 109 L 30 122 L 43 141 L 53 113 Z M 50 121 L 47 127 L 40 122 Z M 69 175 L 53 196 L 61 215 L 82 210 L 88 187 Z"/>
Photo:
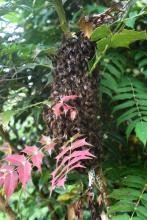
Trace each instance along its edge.
<path fill-rule="evenodd" d="M 81 14 L 101 13 L 113 1 L 63 2 L 70 28 L 77 31 Z M 123 22 L 125 28 L 145 30 L 146 11 L 146 1 L 137 1 Z M 53 80 L 51 56 L 61 43 L 62 31 L 49 1 L 1 0 L 0 16 L 0 144 L 9 142 L 17 151 L 25 144 L 36 144 L 45 132 L 42 111 Z M 129 49 L 110 48 L 99 63 L 103 172 L 114 220 L 147 218 L 146 46 L 146 41 L 137 41 Z M 17 219 L 65 219 L 67 207 L 87 185 L 87 176 L 81 179 L 84 186 L 79 174 L 72 173 L 66 189 L 56 190 L 49 198 L 47 158 L 42 174 L 34 172 L 26 191 L 18 189 L 12 196 L 10 207 Z M 7 219 L 4 215 L 0 219 Z M 84 219 L 90 219 L 86 209 Z"/>

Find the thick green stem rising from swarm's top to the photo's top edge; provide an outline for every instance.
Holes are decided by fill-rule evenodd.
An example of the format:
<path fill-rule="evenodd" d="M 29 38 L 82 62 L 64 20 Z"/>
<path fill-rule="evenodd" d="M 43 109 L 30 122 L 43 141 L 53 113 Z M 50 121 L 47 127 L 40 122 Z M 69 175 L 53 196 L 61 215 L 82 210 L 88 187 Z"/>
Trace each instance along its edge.
<path fill-rule="evenodd" d="M 69 36 L 70 31 L 69 31 L 68 22 L 66 20 L 66 15 L 65 15 L 64 8 L 63 8 L 62 0 L 53 0 L 52 3 L 58 14 L 62 31 L 64 32 L 66 36 Z"/>

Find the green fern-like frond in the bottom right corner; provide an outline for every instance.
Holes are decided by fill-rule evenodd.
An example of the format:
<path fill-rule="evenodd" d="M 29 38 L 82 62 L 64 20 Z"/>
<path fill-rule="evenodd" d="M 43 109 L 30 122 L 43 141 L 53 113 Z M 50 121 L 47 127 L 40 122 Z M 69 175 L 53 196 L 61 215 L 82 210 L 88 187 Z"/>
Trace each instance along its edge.
<path fill-rule="evenodd" d="M 146 181 L 146 175 L 128 175 L 121 179 L 120 188 L 110 194 L 115 201 L 109 209 L 112 219 L 146 219 Z"/>

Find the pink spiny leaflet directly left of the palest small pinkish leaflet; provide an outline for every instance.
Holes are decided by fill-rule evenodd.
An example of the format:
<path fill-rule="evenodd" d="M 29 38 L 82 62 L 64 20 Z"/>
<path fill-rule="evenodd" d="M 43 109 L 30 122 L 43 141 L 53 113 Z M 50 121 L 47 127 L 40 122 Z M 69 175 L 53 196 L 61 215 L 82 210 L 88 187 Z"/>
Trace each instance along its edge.
<path fill-rule="evenodd" d="M 33 166 L 36 166 L 38 170 L 41 172 L 41 164 L 44 154 L 38 149 L 38 147 L 25 146 L 25 149 L 22 152 L 26 153 L 28 156 L 31 156 Z"/>

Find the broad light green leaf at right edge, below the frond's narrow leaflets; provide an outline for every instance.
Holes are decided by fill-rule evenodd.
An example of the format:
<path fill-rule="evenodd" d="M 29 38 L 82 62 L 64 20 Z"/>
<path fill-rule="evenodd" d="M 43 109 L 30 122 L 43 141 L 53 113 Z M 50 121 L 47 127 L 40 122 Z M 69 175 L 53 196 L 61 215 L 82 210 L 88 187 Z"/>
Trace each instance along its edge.
<path fill-rule="evenodd" d="M 147 122 L 138 122 L 135 126 L 135 132 L 136 136 L 145 146 L 147 142 Z"/>

